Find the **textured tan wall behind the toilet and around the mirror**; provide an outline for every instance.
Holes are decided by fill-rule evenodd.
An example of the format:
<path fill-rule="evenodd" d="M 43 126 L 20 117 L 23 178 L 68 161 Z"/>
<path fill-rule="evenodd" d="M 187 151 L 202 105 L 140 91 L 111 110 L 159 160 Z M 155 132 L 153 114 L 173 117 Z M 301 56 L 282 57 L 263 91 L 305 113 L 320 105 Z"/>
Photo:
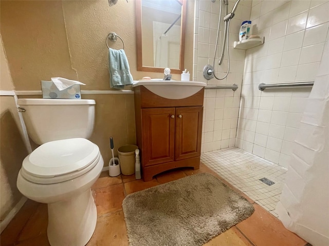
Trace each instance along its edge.
<path fill-rule="evenodd" d="M 40 80 L 61 76 L 82 81 L 82 90 L 110 90 L 108 50 L 105 38 L 116 32 L 125 43 L 134 79 L 162 77 L 161 73 L 137 71 L 135 1 L 119 0 L 109 7 L 107 1 L 1 1 L 1 35 L 13 86 L 16 90 L 40 90 Z M 188 1 L 186 68 L 193 69 L 194 1 Z M 111 48 L 122 43 L 108 41 Z M 173 75 L 180 79 L 180 75 Z M 27 97 L 27 96 L 24 96 Z M 83 95 L 96 100 L 96 126 L 90 138 L 100 147 L 104 165 L 111 151 L 136 144 L 134 96 Z M 115 151 L 116 152 L 116 151 Z M 115 153 L 117 155 L 117 153 Z"/>

